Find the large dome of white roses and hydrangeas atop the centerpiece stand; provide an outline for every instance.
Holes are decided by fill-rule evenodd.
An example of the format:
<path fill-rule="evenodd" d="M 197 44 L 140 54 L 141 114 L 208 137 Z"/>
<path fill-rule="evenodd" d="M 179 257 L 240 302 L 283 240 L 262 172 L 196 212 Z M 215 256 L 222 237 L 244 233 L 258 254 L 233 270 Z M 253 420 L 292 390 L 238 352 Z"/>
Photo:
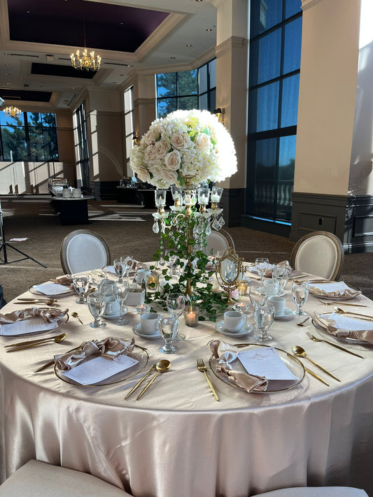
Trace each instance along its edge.
<path fill-rule="evenodd" d="M 234 143 L 208 110 L 176 110 L 155 120 L 131 152 L 130 166 L 157 188 L 183 186 L 185 177 L 222 181 L 237 171 Z"/>

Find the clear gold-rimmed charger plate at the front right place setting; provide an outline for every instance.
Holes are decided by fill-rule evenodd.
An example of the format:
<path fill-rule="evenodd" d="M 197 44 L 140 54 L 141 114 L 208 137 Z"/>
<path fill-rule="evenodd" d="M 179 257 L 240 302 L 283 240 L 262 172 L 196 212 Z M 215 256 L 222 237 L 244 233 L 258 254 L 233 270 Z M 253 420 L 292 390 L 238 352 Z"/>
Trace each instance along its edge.
<path fill-rule="evenodd" d="M 263 345 L 263 344 L 257 344 L 257 343 L 237 343 L 237 344 L 234 344 L 236 347 L 239 347 L 240 350 L 245 350 L 246 347 L 250 347 L 250 348 L 253 348 L 253 347 L 256 347 L 256 348 L 261 348 L 261 347 L 272 347 L 272 345 Z M 293 375 L 295 375 L 297 377 L 297 381 L 294 382 L 293 384 L 291 384 L 290 386 L 287 386 L 287 387 L 283 387 L 281 389 L 275 389 L 275 388 L 272 388 L 271 387 L 271 381 L 269 380 L 268 382 L 268 387 L 267 387 L 267 390 L 266 391 L 262 391 L 262 390 L 253 390 L 251 393 L 252 394 L 274 394 L 275 392 L 279 392 L 279 391 L 286 391 L 286 390 L 290 390 L 294 387 L 297 387 L 297 385 L 299 385 L 303 379 L 304 379 L 304 376 L 306 375 L 306 370 L 304 369 L 304 366 L 302 364 L 302 362 L 295 356 L 293 356 L 292 354 L 289 354 L 288 352 L 286 352 L 286 350 L 282 350 L 282 349 L 279 349 L 277 347 L 274 347 L 274 349 L 276 350 L 277 354 L 279 354 L 281 360 L 283 361 L 283 363 L 286 364 L 286 366 L 288 366 L 288 368 L 290 369 L 291 373 L 293 373 Z M 239 390 L 242 390 L 242 391 L 245 391 L 246 390 L 242 387 L 239 387 L 237 384 L 234 384 L 233 382 L 231 382 L 226 376 L 223 376 L 223 375 L 220 375 L 220 373 L 217 373 L 216 371 L 216 359 L 215 359 L 215 356 L 213 356 L 213 354 L 211 354 L 211 357 L 209 359 L 209 366 L 211 368 L 211 371 L 213 372 L 213 374 L 222 382 L 230 385 L 230 387 L 234 387 L 234 388 L 237 388 Z M 237 371 L 241 371 L 241 373 L 246 373 L 247 374 L 247 371 L 246 369 L 244 368 L 244 366 L 242 366 L 241 362 L 239 361 L 239 359 L 237 359 L 237 361 L 235 361 L 234 363 L 234 369 L 237 370 Z M 246 392 L 247 393 L 247 392 Z"/>

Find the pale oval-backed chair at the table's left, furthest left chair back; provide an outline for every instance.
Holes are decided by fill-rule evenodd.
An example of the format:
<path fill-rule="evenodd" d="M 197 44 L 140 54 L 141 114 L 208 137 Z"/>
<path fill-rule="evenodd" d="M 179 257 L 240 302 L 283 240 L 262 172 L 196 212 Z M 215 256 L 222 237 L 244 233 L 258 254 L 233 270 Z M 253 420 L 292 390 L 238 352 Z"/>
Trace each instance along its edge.
<path fill-rule="evenodd" d="M 65 236 L 60 257 L 62 269 L 67 274 L 102 268 L 111 261 L 104 238 L 88 229 L 77 229 Z"/>

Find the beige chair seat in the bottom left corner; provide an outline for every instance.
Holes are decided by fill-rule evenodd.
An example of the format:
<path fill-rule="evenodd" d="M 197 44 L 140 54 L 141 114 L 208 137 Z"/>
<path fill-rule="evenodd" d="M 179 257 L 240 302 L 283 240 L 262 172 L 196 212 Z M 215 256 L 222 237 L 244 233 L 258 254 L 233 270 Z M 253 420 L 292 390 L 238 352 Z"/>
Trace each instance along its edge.
<path fill-rule="evenodd" d="M 130 497 L 130 494 L 95 476 L 32 460 L 3 482 L 0 496 Z"/>

